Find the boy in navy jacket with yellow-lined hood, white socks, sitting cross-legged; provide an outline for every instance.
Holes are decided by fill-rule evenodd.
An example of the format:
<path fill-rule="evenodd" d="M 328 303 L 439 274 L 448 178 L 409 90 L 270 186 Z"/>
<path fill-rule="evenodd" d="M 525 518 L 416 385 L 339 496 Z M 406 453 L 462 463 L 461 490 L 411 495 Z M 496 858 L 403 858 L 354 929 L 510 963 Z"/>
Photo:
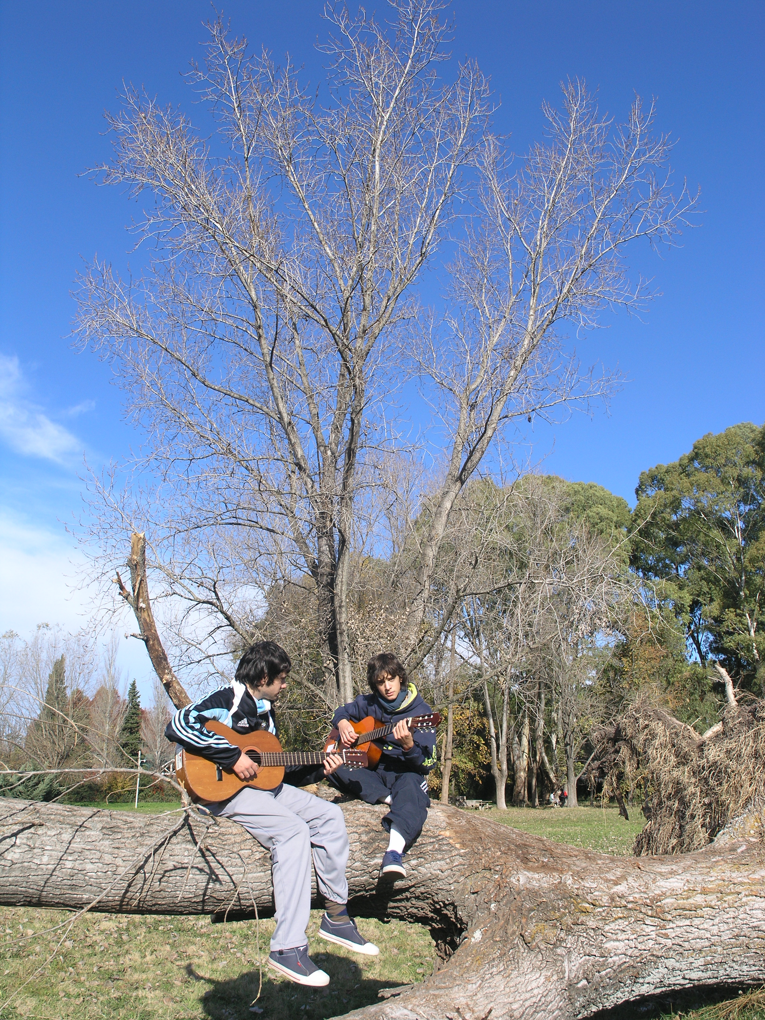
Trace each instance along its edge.
<path fill-rule="evenodd" d="M 360 722 L 368 715 L 382 723 L 395 722 L 396 726 L 390 737 L 377 742 L 382 755 L 376 769 L 351 771 L 341 765 L 333 771 L 329 782 L 367 804 L 390 804 L 391 810 L 381 822 L 389 833 L 389 844 L 379 873 L 395 879 L 406 876 L 404 853 L 425 824 L 430 807 L 427 773 L 436 765 L 436 733 L 410 730 L 406 720 L 415 715 L 429 715 L 432 709 L 390 652 L 381 652 L 369 660 L 366 679 L 370 693 L 359 695 L 333 716 L 343 747 L 350 748 L 357 740 L 351 722 Z"/>

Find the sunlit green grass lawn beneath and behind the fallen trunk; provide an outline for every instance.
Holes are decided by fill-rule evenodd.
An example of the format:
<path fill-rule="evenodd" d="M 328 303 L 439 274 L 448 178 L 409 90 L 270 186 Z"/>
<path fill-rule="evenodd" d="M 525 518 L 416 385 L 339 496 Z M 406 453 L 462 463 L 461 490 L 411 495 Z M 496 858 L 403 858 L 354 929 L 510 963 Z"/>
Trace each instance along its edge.
<path fill-rule="evenodd" d="M 105 807 L 106 805 L 93 805 Z M 131 804 L 110 804 L 133 811 Z M 139 811 L 172 810 L 170 803 L 139 804 Z M 624 821 L 616 809 L 489 810 L 515 828 L 613 854 L 628 854 L 642 817 Z M 311 955 L 332 982 L 315 991 L 263 969 L 272 920 L 212 924 L 209 917 L 115 916 L 81 918 L 50 963 L 65 931 L 45 929 L 66 921 L 64 911 L 0 908 L 0 994 L 18 992 L 2 1020 L 323 1020 L 378 1002 L 381 988 L 422 980 L 435 964 L 434 944 L 420 925 L 361 920 L 378 957 L 358 957 L 316 936 L 320 912 L 311 914 Z M 36 934 L 37 937 L 29 938 Z M 35 973 L 39 970 L 39 973 Z M 23 982 L 32 977 L 24 987 Z M 19 990 L 20 989 L 20 990 Z M 649 1014 L 643 1014 L 648 1016 Z M 742 996 L 693 1013 L 693 1020 L 765 1020 L 765 992 Z"/>

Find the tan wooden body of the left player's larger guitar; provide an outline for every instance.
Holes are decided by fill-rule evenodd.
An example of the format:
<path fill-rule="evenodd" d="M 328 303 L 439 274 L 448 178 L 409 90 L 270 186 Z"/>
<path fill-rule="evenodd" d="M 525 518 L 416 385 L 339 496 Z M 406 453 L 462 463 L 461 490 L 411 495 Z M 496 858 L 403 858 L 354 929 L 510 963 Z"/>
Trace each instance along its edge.
<path fill-rule="evenodd" d="M 282 745 L 267 729 L 256 729 L 253 733 L 237 733 L 215 719 L 206 722 L 205 729 L 224 736 L 230 744 L 241 748 L 256 765 L 259 764 L 261 754 L 282 751 Z M 285 778 L 285 769 L 284 766 L 273 768 L 266 766 L 261 768 L 253 779 L 245 782 L 231 769 L 221 769 L 209 758 L 184 750 L 175 756 L 175 776 L 193 800 L 214 803 L 227 801 L 245 786 L 252 786 L 253 789 L 274 789 Z"/>

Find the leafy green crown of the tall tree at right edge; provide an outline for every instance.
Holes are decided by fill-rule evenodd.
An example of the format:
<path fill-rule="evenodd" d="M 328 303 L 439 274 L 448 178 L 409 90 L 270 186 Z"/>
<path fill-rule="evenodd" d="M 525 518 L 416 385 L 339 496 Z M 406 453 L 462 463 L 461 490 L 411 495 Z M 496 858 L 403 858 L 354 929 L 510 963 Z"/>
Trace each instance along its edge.
<path fill-rule="evenodd" d="M 765 426 L 707 434 L 641 474 L 632 566 L 652 582 L 702 665 L 745 686 L 765 679 Z M 757 679 L 756 679 L 757 678 Z"/>

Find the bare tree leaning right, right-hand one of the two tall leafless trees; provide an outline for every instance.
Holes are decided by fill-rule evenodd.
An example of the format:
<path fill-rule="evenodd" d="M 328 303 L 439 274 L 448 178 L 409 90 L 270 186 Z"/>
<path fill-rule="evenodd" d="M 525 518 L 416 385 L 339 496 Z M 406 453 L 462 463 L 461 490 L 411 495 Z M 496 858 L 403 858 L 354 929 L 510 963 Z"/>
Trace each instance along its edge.
<path fill-rule="evenodd" d="M 607 376 L 581 374 L 561 327 L 591 328 L 604 308 L 641 308 L 624 249 L 643 238 L 672 244 L 695 199 L 669 192 L 666 136 L 654 107 L 635 100 L 628 120 L 602 116 L 584 87 L 563 88 L 563 111 L 546 103 L 547 139 L 514 172 L 487 137 L 474 219 L 451 267 L 444 326 L 427 335 L 419 368 L 442 396 L 448 468 L 421 540 L 408 643 L 417 644 L 434 565 L 455 500 L 493 440 L 513 419 L 608 393 Z"/>

